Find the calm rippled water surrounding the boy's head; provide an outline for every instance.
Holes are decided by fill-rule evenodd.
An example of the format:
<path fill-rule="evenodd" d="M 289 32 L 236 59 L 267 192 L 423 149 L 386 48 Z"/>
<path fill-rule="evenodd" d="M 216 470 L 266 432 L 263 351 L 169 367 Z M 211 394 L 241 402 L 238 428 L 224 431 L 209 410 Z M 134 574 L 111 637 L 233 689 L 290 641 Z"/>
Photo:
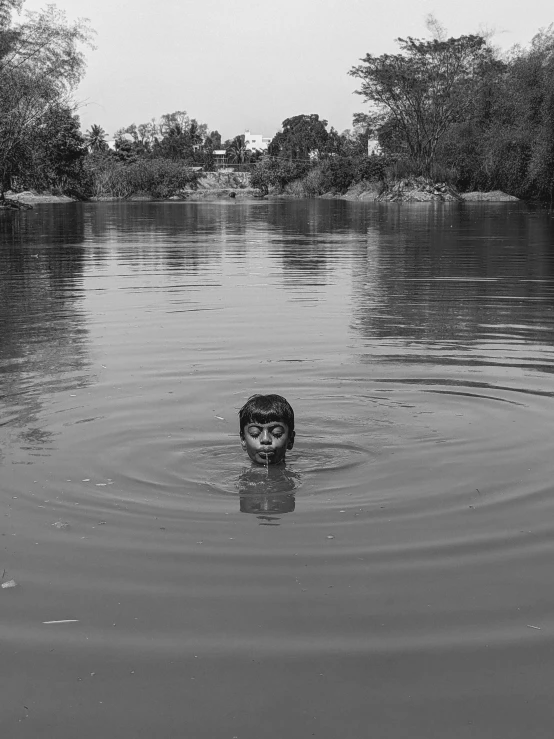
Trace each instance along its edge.
<path fill-rule="evenodd" d="M 0 240 L 3 736 L 551 739 L 547 214 L 72 204 Z M 269 476 L 253 392 L 297 416 Z"/>

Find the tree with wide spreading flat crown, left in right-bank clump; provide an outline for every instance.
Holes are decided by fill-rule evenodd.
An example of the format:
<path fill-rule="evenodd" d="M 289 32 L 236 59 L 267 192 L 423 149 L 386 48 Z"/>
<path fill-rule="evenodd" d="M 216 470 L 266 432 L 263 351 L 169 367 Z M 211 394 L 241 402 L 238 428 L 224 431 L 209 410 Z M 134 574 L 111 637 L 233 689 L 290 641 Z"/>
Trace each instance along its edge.
<path fill-rule="evenodd" d="M 358 94 L 386 113 L 393 139 L 429 173 L 439 142 L 467 115 L 486 72 L 498 62 L 482 36 L 397 42 L 400 54 L 367 54 L 349 74 L 361 81 Z"/>

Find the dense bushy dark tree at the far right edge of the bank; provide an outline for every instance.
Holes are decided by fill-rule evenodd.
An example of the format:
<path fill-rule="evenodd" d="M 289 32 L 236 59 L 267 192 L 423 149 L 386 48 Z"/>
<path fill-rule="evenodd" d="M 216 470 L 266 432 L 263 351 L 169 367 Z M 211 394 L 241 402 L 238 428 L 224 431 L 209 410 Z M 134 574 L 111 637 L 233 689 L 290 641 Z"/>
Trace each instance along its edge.
<path fill-rule="evenodd" d="M 515 47 L 483 78 L 471 115 L 437 148 L 467 190 L 504 190 L 518 197 L 554 196 L 554 30 L 541 29 L 528 48 Z"/>

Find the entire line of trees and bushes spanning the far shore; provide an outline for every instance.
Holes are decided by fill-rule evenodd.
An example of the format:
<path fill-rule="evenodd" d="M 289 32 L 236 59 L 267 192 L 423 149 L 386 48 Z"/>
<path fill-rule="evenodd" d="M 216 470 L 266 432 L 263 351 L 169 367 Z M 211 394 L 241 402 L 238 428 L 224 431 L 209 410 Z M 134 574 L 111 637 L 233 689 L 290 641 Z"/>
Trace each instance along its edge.
<path fill-rule="evenodd" d="M 171 197 L 212 171 L 224 149 L 262 194 L 425 177 L 552 204 L 552 26 L 501 53 L 481 35 L 448 38 L 429 19 L 430 38 L 399 38 L 397 53 L 366 54 L 351 68 L 367 107 L 342 133 L 317 114 L 295 115 L 257 152 L 243 135 L 222 141 L 178 110 L 119 129 L 109 146 L 99 124 L 81 130 L 73 101 L 93 31 L 54 6 L 23 14 L 23 3 L 0 0 L 0 198 L 10 189 Z"/>

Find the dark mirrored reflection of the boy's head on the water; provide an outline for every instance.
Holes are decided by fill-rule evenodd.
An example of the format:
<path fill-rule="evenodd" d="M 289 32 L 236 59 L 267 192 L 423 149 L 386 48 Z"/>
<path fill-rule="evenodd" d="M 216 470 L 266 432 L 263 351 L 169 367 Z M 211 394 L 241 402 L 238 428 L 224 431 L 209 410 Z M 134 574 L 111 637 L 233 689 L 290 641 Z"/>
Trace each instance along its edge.
<path fill-rule="evenodd" d="M 277 525 L 279 518 L 269 514 L 292 513 L 294 491 L 300 475 L 286 465 L 263 467 L 253 464 L 244 469 L 237 481 L 241 513 L 253 513 L 266 525 Z"/>

